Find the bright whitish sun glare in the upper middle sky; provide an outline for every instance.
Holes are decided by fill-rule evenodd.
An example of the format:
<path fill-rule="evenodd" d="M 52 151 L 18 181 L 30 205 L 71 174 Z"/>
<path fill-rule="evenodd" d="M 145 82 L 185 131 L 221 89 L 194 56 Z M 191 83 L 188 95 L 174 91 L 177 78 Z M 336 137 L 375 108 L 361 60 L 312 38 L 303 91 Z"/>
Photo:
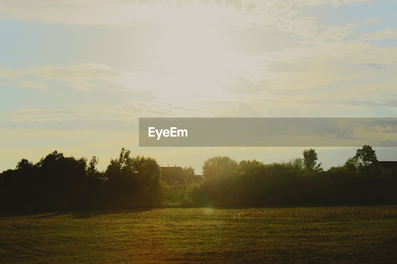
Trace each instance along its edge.
<path fill-rule="evenodd" d="M 165 71 L 213 71 L 227 61 L 230 46 L 214 23 L 190 21 L 163 25 L 152 45 L 151 62 Z"/>

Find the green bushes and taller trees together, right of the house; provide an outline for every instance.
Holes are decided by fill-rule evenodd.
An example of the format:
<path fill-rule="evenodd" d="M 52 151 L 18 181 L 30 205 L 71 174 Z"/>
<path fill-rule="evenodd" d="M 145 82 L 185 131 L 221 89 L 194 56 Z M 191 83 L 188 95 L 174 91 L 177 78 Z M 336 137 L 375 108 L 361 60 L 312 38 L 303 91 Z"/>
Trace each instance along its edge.
<path fill-rule="evenodd" d="M 164 197 L 185 207 L 376 205 L 397 203 L 397 176 L 382 175 L 372 147 L 364 145 L 342 166 L 324 171 L 314 149 L 288 162 L 264 164 L 227 156 L 207 159 L 204 181 L 170 186 Z"/>

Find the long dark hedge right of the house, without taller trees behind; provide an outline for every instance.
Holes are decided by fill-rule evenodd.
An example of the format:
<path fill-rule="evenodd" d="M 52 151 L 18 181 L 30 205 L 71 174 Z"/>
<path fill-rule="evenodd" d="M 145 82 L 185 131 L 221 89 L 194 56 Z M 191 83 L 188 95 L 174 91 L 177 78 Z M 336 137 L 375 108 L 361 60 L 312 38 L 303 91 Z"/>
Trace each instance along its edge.
<path fill-rule="evenodd" d="M 195 206 L 215 207 L 374 205 L 396 203 L 396 189 L 395 178 L 389 182 L 343 167 L 316 171 L 254 160 L 241 161 L 235 172 L 205 180 L 190 196 Z"/>

